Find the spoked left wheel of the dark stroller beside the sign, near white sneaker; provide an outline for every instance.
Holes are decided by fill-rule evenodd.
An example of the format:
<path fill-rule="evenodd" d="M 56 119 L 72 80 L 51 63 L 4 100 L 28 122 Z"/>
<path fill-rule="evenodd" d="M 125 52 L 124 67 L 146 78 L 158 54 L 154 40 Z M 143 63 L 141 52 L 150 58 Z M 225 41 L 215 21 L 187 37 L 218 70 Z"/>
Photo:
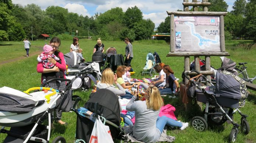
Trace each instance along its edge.
<path fill-rule="evenodd" d="M 195 116 L 191 119 L 191 125 L 197 131 L 205 131 L 208 128 L 208 124 L 203 117 Z"/>

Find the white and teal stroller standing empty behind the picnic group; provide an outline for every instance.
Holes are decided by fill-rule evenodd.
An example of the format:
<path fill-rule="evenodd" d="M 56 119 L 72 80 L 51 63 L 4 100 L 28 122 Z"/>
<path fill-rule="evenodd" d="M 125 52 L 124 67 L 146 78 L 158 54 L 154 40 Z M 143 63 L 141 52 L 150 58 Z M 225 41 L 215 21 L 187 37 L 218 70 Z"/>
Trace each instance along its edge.
<path fill-rule="evenodd" d="M 142 71 L 142 76 L 144 76 L 145 73 L 149 73 L 150 76 L 153 76 L 151 72 L 155 72 L 154 66 L 156 64 L 156 59 L 154 58 L 154 55 L 152 53 L 148 53 L 146 57 L 146 64 Z"/>

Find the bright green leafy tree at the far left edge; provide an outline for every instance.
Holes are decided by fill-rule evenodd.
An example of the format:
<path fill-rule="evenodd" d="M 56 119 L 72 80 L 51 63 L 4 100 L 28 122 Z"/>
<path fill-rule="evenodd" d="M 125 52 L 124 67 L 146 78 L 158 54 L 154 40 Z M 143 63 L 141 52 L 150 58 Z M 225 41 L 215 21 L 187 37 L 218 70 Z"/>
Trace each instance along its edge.
<path fill-rule="evenodd" d="M 0 41 L 9 40 L 11 26 L 15 24 L 15 17 L 10 15 L 13 4 L 11 0 L 0 1 Z"/>

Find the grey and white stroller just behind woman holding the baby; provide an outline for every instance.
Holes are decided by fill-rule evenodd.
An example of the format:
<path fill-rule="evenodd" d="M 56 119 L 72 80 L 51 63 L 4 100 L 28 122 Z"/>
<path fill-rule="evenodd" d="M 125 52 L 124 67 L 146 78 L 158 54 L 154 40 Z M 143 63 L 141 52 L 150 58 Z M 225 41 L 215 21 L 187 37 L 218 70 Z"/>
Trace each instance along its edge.
<path fill-rule="evenodd" d="M 99 63 L 96 62 L 87 62 L 87 63 L 78 63 L 79 62 L 79 56 L 76 52 L 69 52 L 64 54 L 64 59 L 67 64 L 67 75 L 75 75 L 78 72 L 80 72 L 82 69 L 85 68 L 92 68 L 91 74 L 97 79 L 101 79 L 101 72 Z"/>

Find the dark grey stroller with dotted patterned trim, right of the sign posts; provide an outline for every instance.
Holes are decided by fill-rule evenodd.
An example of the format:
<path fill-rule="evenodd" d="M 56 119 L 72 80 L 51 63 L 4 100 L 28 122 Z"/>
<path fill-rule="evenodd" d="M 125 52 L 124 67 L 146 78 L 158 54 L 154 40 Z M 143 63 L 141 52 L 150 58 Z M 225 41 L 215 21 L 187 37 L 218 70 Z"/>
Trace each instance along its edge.
<path fill-rule="evenodd" d="M 189 72 L 196 72 L 199 76 L 202 76 L 208 83 L 209 80 L 200 72 L 192 70 Z M 185 72 L 185 77 L 189 79 Z M 191 119 L 191 125 L 198 131 L 204 131 L 207 129 L 207 121 L 216 125 L 222 125 L 226 121 L 230 121 L 233 124 L 229 141 L 235 142 L 238 134 L 239 125 L 232 120 L 232 116 L 235 112 L 241 115 L 241 131 L 247 135 L 250 131 L 250 127 L 245 114 L 238 109 L 245 105 L 245 99 L 248 97 L 248 92 L 245 86 L 245 81 L 238 76 L 227 72 L 219 71 L 216 74 L 216 86 L 199 86 L 195 80 L 189 79 L 192 86 L 196 87 L 195 96 L 196 100 L 206 104 L 204 110 L 204 117 L 195 116 Z M 235 109 L 235 110 L 234 110 Z"/>

